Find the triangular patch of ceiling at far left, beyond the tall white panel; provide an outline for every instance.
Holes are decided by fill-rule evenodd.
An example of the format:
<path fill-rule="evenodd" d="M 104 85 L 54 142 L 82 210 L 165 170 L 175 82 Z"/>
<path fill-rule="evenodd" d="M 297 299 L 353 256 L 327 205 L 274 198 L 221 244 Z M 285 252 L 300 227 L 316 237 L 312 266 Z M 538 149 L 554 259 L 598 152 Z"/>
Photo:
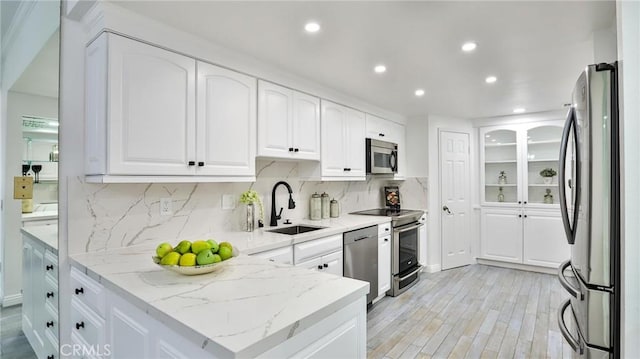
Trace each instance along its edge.
<path fill-rule="evenodd" d="M 60 32 L 56 31 L 22 75 L 11 91 L 58 98 Z"/>

